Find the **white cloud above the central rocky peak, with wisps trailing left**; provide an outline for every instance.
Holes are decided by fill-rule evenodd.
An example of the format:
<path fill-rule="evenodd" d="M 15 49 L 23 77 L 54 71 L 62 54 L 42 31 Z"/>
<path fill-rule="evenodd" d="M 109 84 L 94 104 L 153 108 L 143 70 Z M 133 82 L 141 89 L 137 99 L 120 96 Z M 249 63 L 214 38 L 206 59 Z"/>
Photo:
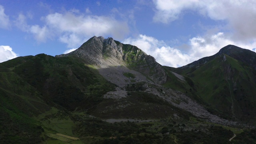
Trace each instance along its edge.
<path fill-rule="evenodd" d="M 42 17 L 44 26 L 26 24 L 22 14 L 17 18 L 16 25 L 26 32 L 34 34 L 38 42 L 58 38 L 68 48 L 77 48 L 84 40 L 92 36 L 113 36 L 124 38 L 129 33 L 128 24 L 107 16 L 84 15 L 71 10 L 65 13 L 53 13 Z"/>

